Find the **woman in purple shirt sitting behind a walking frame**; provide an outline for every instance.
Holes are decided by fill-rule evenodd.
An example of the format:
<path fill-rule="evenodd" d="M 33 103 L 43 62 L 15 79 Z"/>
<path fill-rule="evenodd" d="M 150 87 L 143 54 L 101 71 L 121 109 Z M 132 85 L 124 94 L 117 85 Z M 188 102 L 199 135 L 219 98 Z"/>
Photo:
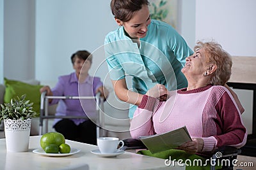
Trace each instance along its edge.
<path fill-rule="evenodd" d="M 40 92 L 47 92 L 47 96 L 100 96 L 108 97 L 108 90 L 104 89 L 99 77 L 88 74 L 92 65 L 92 55 L 86 50 L 79 50 L 71 56 L 74 72 L 60 76 L 58 83 L 52 89 L 44 86 Z M 91 119 L 96 115 L 94 99 L 49 99 L 49 104 L 57 104 L 56 116 L 86 116 L 88 118 L 55 118 L 55 131 L 65 136 L 65 139 L 96 145 L 96 125 Z"/>

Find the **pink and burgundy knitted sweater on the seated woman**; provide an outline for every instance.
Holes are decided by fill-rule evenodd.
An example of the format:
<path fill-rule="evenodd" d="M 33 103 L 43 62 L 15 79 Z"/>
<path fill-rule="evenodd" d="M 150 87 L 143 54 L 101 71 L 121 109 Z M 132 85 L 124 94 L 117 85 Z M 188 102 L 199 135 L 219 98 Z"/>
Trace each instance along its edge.
<path fill-rule="evenodd" d="M 161 134 L 186 125 L 192 138 L 204 139 L 202 152 L 225 145 L 240 148 L 246 143 L 240 111 L 225 87 L 180 89 L 169 92 L 168 96 L 161 103 L 143 96 L 131 121 L 132 138 Z"/>

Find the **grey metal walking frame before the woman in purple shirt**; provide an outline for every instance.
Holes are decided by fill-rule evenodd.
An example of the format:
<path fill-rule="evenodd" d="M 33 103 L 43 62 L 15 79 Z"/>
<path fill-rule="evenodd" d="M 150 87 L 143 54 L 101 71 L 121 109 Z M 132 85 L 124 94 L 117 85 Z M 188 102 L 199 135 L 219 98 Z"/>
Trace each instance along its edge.
<path fill-rule="evenodd" d="M 48 132 L 48 119 L 52 118 L 88 118 L 85 115 L 84 116 L 56 116 L 56 115 L 49 115 L 48 109 L 49 109 L 49 99 L 95 99 L 96 100 L 96 136 L 99 138 L 102 136 L 102 130 L 101 127 L 104 127 L 104 116 L 101 114 L 104 110 L 104 99 L 100 97 L 100 93 L 97 93 L 96 96 L 46 96 L 46 91 L 42 92 L 41 94 L 41 101 L 40 101 L 40 122 L 39 122 L 39 135 L 42 135 L 43 133 L 43 125 L 44 120 L 45 121 L 45 132 Z M 102 111 L 100 111 L 102 110 Z"/>

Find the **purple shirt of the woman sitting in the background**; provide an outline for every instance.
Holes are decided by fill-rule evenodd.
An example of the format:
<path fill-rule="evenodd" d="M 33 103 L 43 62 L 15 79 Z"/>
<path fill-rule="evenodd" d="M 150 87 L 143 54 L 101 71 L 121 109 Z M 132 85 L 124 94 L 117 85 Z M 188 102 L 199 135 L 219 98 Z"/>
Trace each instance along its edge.
<path fill-rule="evenodd" d="M 95 91 L 102 86 L 102 82 L 99 77 L 88 76 L 83 83 L 78 84 L 76 73 L 71 73 L 66 76 L 60 76 L 59 81 L 54 88 L 52 88 L 53 96 L 95 96 Z M 95 99 L 53 99 L 51 104 L 58 104 L 56 108 L 56 116 L 84 116 L 95 118 L 96 102 Z M 83 106 L 83 107 L 82 107 Z M 83 110 L 84 108 L 84 110 Z M 60 118 L 54 119 L 55 125 Z M 76 125 L 83 123 L 84 119 L 72 119 Z"/>

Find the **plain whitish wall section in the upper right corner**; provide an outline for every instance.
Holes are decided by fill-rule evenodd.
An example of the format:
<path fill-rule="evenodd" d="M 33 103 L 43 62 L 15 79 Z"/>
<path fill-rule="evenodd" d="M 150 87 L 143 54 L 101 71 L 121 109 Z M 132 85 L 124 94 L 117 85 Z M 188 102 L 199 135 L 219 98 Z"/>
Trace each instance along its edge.
<path fill-rule="evenodd" d="M 231 55 L 256 56 L 255 0 L 196 0 L 196 39 L 214 38 Z"/>

